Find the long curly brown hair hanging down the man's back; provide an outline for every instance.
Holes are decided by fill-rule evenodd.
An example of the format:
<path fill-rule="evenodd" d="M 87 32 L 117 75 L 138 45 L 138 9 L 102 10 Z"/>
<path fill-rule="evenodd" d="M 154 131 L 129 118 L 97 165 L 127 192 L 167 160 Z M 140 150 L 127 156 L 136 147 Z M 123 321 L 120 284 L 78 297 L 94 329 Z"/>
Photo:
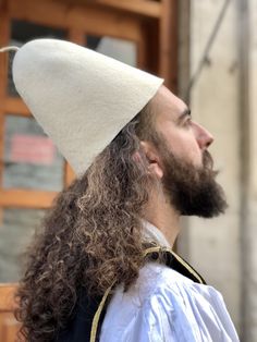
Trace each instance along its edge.
<path fill-rule="evenodd" d="M 151 132 L 147 105 L 61 192 L 26 253 L 15 316 L 26 341 L 51 341 L 69 321 L 82 288 L 127 289 L 143 266 L 142 215 L 152 182 L 139 139 Z M 139 158 L 138 158 L 139 156 Z"/>

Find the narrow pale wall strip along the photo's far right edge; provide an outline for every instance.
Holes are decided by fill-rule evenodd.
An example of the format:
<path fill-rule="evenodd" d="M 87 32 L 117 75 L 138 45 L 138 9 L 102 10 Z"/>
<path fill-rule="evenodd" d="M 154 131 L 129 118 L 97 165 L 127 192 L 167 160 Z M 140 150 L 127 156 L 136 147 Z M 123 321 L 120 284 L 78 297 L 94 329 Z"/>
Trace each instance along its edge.
<path fill-rule="evenodd" d="M 245 341 L 257 341 L 257 1 L 249 0 L 249 182 L 246 227 Z"/>

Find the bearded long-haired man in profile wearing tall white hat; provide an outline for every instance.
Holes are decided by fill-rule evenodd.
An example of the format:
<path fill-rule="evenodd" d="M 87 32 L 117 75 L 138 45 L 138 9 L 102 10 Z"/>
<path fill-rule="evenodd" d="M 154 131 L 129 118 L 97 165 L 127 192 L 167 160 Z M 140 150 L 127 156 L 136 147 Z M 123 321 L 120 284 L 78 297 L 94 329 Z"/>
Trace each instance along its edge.
<path fill-rule="evenodd" d="M 227 207 L 211 134 L 162 80 L 69 42 L 25 45 L 13 74 L 79 174 L 30 245 L 17 291 L 23 335 L 238 341 L 221 295 L 172 252 L 181 216 Z"/>

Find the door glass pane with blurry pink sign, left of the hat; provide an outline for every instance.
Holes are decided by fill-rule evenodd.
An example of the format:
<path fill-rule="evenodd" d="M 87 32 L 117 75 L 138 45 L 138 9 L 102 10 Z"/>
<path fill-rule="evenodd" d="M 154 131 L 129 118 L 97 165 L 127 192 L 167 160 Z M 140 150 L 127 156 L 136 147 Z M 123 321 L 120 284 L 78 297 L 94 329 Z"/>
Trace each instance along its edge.
<path fill-rule="evenodd" d="M 59 192 L 64 159 L 35 119 L 5 115 L 3 188 Z"/>

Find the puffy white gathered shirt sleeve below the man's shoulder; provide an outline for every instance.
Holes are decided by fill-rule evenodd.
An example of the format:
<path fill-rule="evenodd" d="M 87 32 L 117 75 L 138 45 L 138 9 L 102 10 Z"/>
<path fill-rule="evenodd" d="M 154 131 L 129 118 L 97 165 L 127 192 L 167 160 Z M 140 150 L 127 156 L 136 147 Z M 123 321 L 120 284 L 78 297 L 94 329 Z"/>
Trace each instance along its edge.
<path fill-rule="evenodd" d="M 229 319 L 227 327 L 222 319 Z M 123 332 L 121 341 L 126 342 L 238 341 L 218 292 L 213 292 L 209 302 L 194 288 L 158 289 Z"/>

